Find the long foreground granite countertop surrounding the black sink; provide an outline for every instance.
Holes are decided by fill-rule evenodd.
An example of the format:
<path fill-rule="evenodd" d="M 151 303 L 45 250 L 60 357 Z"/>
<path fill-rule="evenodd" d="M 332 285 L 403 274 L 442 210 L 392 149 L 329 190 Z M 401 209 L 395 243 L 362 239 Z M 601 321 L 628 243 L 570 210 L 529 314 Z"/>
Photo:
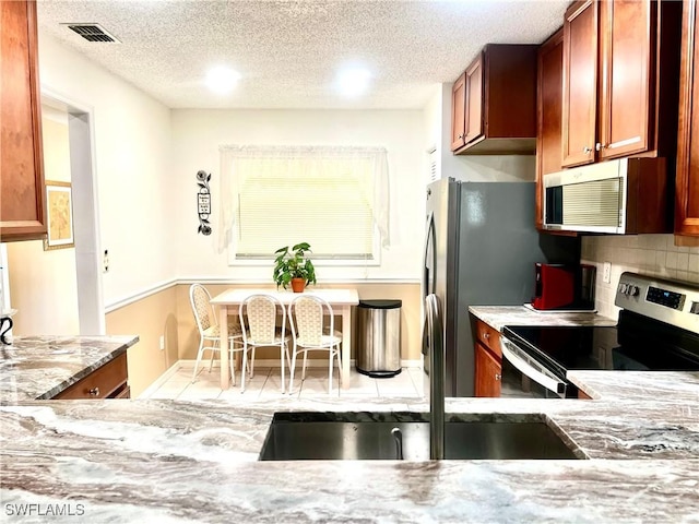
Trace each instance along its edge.
<path fill-rule="evenodd" d="M 697 522 L 699 373 L 570 379 L 594 400 L 450 398 L 447 412 L 543 417 L 589 460 L 257 461 L 275 410 L 428 410 L 410 398 L 0 406 L 0 511 L 7 522 Z M 58 510 L 73 515 L 47 516 Z"/>

